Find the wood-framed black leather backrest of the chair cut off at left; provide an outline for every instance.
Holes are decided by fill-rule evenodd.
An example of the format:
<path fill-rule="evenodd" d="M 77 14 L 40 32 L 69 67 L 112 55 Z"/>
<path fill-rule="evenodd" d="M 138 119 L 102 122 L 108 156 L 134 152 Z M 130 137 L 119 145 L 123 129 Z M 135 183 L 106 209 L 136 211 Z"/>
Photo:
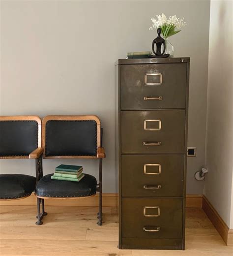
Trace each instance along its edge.
<path fill-rule="evenodd" d="M 29 157 L 40 147 L 40 126 L 36 116 L 0 116 L 0 158 Z"/>

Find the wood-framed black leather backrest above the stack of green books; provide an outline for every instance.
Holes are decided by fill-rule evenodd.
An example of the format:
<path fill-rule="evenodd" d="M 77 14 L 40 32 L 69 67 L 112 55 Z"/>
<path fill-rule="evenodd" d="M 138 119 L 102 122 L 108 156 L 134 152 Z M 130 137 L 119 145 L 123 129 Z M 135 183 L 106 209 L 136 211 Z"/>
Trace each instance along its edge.
<path fill-rule="evenodd" d="M 47 116 L 42 123 L 44 157 L 96 157 L 99 133 L 96 116 Z"/>

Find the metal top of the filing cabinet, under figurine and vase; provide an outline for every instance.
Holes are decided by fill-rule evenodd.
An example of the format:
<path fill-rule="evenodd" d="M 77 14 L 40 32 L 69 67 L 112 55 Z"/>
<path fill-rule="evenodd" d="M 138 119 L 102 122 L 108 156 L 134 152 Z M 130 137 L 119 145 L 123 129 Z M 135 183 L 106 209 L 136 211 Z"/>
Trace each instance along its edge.
<path fill-rule="evenodd" d="M 158 63 L 189 63 L 189 57 L 154 58 L 154 59 L 119 59 L 115 65 L 120 64 L 158 64 Z"/>

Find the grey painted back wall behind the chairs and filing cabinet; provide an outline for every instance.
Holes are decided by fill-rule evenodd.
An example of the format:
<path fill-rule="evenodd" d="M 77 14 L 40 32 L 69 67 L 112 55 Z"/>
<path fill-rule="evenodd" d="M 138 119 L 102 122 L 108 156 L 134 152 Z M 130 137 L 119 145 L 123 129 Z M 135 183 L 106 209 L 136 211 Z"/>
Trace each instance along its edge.
<path fill-rule="evenodd" d="M 150 50 L 150 18 L 164 12 L 188 26 L 171 42 L 191 57 L 187 192 L 203 193 L 194 173 L 204 166 L 209 0 L 1 0 L 1 115 L 96 114 L 104 128 L 104 192 L 116 192 L 114 62 Z M 44 160 L 44 173 L 80 163 L 97 175 L 95 160 Z M 0 173 L 34 174 L 34 161 L 1 160 Z"/>

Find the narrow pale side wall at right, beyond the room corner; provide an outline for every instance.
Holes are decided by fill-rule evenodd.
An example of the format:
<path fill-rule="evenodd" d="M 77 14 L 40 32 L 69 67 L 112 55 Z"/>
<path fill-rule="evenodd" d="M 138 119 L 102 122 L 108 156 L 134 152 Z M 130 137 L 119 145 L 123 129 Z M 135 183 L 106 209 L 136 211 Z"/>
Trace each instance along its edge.
<path fill-rule="evenodd" d="M 205 159 L 209 172 L 204 182 L 204 195 L 230 228 L 233 228 L 233 23 L 229 22 L 232 13 L 232 1 L 211 0 Z"/>

